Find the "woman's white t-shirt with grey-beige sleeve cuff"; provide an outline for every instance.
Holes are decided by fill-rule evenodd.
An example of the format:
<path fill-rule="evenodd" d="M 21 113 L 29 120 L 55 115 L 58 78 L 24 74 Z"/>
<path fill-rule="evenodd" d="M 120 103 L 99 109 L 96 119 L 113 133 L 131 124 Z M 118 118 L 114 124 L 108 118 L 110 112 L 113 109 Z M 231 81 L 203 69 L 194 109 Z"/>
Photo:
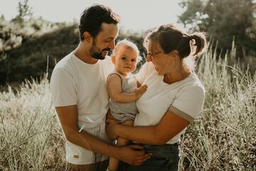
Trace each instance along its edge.
<path fill-rule="evenodd" d="M 163 81 L 164 76 L 159 76 L 154 69 L 154 64 L 147 62 L 137 73 L 136 78 L 142 85 L 147 85 L 148 89 L 137 100 L 139 113 L 134 120 L 134 125 L 157 125 L 167 110 L 171 110 L 190 123 L 200 114 L 205 89 L 196 73 L 191 73 L 182 81 L 167 84 Z M 185 130 L 186 128 L 167 143 L 178 142 Z"/>

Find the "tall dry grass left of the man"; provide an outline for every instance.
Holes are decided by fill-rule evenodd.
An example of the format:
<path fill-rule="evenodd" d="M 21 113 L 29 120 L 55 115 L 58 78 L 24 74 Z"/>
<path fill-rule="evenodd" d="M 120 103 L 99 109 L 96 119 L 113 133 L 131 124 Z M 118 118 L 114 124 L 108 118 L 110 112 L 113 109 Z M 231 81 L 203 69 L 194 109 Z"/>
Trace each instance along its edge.
<path fill-rule="evenodd" d="M 65 170 L 63 135 L 46 79 L 0 94 L 0 170 Z"/>

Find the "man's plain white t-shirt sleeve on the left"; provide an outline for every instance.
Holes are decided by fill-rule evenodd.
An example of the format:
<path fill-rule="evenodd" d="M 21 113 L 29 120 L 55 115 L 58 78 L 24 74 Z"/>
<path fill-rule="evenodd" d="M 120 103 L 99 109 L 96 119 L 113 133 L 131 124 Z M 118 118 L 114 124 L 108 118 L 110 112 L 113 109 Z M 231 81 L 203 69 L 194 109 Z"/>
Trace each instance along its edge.
<path fill-rule="evenodd" d="M 50 91 L 55 107 L 77 104 L 75 79 L 63 68 L 53 71 L 50 78 Z"/>

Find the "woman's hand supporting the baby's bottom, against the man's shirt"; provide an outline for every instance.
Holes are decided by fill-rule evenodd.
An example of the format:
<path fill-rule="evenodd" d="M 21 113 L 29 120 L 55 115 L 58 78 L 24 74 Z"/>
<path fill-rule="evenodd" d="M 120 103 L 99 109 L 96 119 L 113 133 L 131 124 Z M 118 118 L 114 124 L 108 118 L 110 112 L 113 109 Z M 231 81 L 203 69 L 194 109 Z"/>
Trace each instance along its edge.
<path fill-rule="evenodd" d="M 111 139 L 111 140 L 117 140 L 118 136 L 117 136 L 117 125 L 119 125 L 119 123 L 117 122 L 117 120 L 115 120 L 113 118 L 113 116 L 110 113 L 110 110 L 107 112 L 107 118 L 106 118 L 106 133 L 107 136 Z"/>

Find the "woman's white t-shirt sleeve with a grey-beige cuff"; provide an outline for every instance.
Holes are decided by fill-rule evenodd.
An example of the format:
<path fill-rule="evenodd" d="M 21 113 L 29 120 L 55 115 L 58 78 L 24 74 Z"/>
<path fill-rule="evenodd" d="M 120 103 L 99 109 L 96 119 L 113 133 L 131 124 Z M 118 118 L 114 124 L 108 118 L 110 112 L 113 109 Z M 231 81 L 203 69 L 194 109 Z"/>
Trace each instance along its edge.
<path fill-rule="evenodd" d="M 203 108 L 204 97 L 205 90 L 201 86 L 184 88 L 177 94 L 169 110 L 192 123 Z"/>

